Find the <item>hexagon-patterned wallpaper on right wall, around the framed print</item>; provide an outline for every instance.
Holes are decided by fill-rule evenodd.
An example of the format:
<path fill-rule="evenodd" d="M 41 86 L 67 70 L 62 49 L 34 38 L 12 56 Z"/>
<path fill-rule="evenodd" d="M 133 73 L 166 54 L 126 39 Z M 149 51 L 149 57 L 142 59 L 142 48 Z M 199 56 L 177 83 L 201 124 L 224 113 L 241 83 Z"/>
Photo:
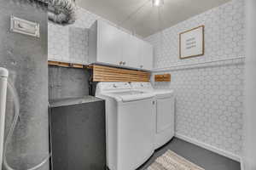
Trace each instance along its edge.
<path fill-rule="evenodd" d="M 154 74 L 169 72 L 177 97 L 176 133 L 240 156 L 243 116 L 244 3 L 233 0 L 147 38 Z M 205 55 L 179 59 L 178 35 L 205 25 Z"/>

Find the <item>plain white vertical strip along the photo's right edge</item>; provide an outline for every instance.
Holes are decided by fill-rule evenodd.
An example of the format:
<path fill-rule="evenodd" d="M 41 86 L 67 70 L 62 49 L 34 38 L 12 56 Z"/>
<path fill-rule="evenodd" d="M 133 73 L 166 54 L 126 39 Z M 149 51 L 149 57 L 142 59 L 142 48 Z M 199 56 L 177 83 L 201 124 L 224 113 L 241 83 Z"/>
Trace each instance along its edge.
<path fill-rule="evenodd" d="M 245 116 L 242 169 L 256 169 L 256 1 L 246 0 Z"/>

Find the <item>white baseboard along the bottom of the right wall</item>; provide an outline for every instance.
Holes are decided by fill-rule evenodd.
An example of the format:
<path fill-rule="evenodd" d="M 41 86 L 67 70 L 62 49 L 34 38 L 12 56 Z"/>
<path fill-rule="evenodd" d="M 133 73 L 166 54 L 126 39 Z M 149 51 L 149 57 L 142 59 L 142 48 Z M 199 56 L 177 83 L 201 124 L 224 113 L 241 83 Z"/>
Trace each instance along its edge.
<path fill-rule="evenodd" d="M 207 150 L 211 150 L 212 152 L 215 152 L 221 156 L 225 156 L 225 157 L 228 157 L 234 161 L 239 161 L 241 162 L 241 157 L 240 156 L 237 156 L 235 154 L 232 154 L 230 153 L 229 151 L 226 151 L 226 150 L 221 150 L 221 149 L 218 149 L 217 147 L 215 146 L 212 146 L 211 144 L 206 144 L 206 143 L 203 143 L 201 141 L 198 141 L 196 139 L 191 139 L 187 136 L 184 136 L 180 133 L 175 133 L 175 137 L 178 138 L 178 139 L 183 139 L 191 144 L 195 144 L 195 145 L 198 145 L 204 149 L 207 149 Z"/>

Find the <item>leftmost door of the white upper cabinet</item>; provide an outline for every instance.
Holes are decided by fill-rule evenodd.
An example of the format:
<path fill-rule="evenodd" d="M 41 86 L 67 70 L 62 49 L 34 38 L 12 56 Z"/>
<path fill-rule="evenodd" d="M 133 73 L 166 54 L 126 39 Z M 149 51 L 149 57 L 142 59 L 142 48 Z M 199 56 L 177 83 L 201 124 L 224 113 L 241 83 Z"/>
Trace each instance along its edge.
<path fill-rule="evenodd" d="M 97 62 L 119 65 L 122 61 L 124 33 L 105 22 L 98 26 Z"/>

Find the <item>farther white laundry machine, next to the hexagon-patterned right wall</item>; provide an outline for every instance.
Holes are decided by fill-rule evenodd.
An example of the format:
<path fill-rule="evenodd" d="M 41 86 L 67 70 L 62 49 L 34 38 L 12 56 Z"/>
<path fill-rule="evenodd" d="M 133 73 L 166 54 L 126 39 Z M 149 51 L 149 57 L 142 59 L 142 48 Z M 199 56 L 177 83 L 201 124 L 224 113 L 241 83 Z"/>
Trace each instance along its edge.
<path fill-rule="evenodd" d="M 174 137 L 174 92 L 169 89 L 154 89 L 150 82 L 131 82 L 131 88 L 154 94 L 156 104 L 154 110 L 156 115 L 154 149 L 158 149 Z"/>

